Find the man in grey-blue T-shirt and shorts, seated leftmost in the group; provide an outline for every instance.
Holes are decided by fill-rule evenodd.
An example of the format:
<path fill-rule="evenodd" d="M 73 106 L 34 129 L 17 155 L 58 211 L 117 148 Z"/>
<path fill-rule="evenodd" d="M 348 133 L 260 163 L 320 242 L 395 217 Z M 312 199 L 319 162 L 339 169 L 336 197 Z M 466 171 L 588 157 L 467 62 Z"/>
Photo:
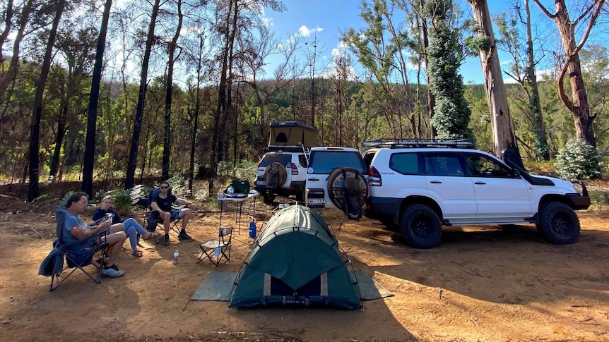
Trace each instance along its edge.
<path fill-rule="evenodd" d="M 108 257 L 102 260 L 102 276 L 110 278 L 118 278 L 123 276 L 124 271 L 119 270 L 115 260 L 121 251 L 123 243 L 127 236 L 123 231 L 122 224 L 112 225 L 110 221 L 103 221 L 97 226 L 87 226 L 85 222 L 78 216 L 87 207 L 87 195 L 85 193 L 74 193 L 66 202 L 66 219 L 64 221 L 64 229 L 69 234 L 63 234 L 62 244 L 73 243 L 76 240 L 90 239 L 90 243 L 85 245 L 85 248 L 95 248 L 99 242 L 98 238 L 92 238 L 97 233 L 106 229 L 110 230 L 105 236 L 105 242 L 108 244 Z"/>

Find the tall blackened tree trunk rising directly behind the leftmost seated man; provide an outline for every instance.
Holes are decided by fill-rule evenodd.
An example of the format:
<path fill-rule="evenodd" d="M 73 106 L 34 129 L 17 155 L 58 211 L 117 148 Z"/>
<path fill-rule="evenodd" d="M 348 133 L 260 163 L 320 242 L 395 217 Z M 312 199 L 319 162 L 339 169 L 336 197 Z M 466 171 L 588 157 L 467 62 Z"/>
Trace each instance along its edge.
<path fill-rule="evenodd" d="M 83 187 L 82 190 L 89 198 L 93 198 L 93 169 L 95 166 L 95 133 L 97 130 L 97 102 L 100 99 L 100 83 L 102 80 L 102 63 L 106 47 L 106 34 L 108 31 L 108 20 L 110 20 L 110 8 L 112 0 L 106 0 L 100 36 L 97 37 L 97 49 L 95 51 L 95 65 L 93 66 L 93 80 L 91 80 L 91 94 L 87 116 L 87 137 L 85 138 L 85 162 L 83 164 Z"/>

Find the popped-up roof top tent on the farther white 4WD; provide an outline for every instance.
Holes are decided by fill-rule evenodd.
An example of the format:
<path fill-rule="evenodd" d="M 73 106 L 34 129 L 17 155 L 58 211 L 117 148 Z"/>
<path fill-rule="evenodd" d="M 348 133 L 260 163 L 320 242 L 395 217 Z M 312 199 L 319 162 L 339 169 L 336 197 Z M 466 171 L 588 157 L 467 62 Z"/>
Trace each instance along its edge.
<path fill-rule="evenodd" d="M 317 128 L 296 121 L 279 121 L 270 125 L 271 136 L 268 138 L 268 149 L 295 149 L 317 146 Z"/>

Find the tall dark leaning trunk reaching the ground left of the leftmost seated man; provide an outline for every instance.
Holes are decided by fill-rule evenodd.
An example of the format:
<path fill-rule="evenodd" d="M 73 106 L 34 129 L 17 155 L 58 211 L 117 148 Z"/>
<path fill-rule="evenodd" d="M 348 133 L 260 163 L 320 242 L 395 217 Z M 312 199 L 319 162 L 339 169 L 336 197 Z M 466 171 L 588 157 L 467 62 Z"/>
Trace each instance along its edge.
<path fill-rule="evenodd" d="M 34 109 L 32 111 L 32 123 L 30 125 L 30 183 L 28 185 L 28 202 L 32 202 L 38 196 L 38 176 L 39 162 L 38 152 L 40 152 L 40 121 L 42 120 L 42 95 L 45 92 L 45 84 L 47 83 L 47 75 L 51 68 L 53 45 L 59 27 L 59 20 L 64 13 L 66 0 L 53 1 L 54 18 L 51 30 L 49 30 L 49 40 L 45 51 L 45 59 L 42 61 L 40 76 L 36 85 L 34 95 Z"/>

